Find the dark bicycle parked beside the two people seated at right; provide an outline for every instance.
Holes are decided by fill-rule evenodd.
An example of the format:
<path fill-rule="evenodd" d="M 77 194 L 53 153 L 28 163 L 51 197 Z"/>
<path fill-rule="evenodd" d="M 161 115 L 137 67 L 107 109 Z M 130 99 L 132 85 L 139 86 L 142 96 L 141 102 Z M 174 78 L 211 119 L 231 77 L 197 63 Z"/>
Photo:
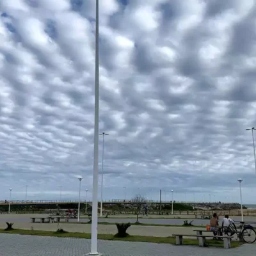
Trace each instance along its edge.
<path fill-rule="evenodd" d="M 236 223 L 241 223 L 240 230 L 237 230 L 236 224 L 232 222 L 228 227 L 222 227 L 221 232 L 227 236 L 234 236 L 234 234 L 237 234 L 239 241 L 244 241 L 248 244 L 254 243 L 256 241 L 256 232 L 253 227 L 244 224 L 244 221 Z"/>

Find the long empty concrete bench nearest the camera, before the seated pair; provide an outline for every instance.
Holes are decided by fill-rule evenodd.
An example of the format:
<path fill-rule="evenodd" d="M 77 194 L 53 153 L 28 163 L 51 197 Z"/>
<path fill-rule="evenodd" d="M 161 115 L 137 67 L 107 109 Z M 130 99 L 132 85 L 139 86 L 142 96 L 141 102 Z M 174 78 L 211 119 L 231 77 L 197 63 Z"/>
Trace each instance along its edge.
<path fill-rule="evenodd" d="M 198 237 L 199 246 L 206 246 L 206 237 L 211 238 L 222 238 L 223 239 L 223 246 L 225 249 L 229 249 L 231 247 L 231 238 L 230 236 L 208 236 L 208 235 L 189 235 L 189 234 L 172 234 L 172 236 L 176 237 L 176 245 L 183 244 L 183 237 Z"/>

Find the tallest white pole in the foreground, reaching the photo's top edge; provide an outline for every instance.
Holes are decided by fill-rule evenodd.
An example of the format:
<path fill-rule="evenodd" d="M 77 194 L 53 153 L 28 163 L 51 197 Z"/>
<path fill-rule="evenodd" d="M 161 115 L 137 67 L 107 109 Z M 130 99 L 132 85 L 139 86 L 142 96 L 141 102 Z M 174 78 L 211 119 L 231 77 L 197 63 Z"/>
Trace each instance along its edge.
<path fill-rule="evenodd" d="M 96 35 L 95 35 L 95 113 L 94 113 L 94 151 L 93 151 L 93 202 L 92 236 L 90 255 L 98 252 L 98 161 L 99 161 L 99 0 L 96 0 Z"/>

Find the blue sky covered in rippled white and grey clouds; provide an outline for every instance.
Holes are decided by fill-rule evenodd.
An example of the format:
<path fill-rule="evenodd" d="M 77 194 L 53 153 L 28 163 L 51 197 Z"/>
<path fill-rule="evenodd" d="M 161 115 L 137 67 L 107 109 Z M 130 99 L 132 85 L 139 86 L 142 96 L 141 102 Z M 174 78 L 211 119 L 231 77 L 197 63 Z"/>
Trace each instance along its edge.
<path fill-rule="evenodd" d="M 99 2 L 104 200 L 255 203 L 256 1 Z M 0 200 L 90 200 L 95 1 L 0 13 Z"/>

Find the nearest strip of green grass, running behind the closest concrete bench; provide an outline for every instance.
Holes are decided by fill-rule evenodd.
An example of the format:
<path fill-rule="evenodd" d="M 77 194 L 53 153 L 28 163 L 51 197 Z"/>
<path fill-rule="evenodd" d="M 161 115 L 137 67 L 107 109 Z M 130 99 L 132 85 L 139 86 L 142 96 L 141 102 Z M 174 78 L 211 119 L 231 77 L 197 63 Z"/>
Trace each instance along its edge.
<path fill-rule="evenodd" d="M 53 236 L 53 237 L 76 237 L 76 238 L 85 238 L 90 239 L 91 234 L 86 233 L 57 233 L 52 231 L 41 231 L 41 230 L 24 230 L 24 229 L 13 229 L 11 231 L 4 231 L 0 229 L 0 233 L 3 234 L 20 234 L 20 235 L 29 235 L 29 236 Z M 175 237 L 152 237 L 152 236 L 127 236 L 124 238 L 115 237 L 111 234 L 98 234 L 98 239 L 101 240 L 116 240 L 116 241 L 131 241 L 131 242 L 148 242 L 148 243 L 166 243 L 166 244 L 175 244 Z M 196 239 L 184 239 L 184 244 L 186 245 L 198 245 Z M 209 246 L 214 247 L 223 247 L 222 241 L 207 240 Z M 241 246 L 243 243 L 237 241 L 232 241 L 232 248 Z"/>

